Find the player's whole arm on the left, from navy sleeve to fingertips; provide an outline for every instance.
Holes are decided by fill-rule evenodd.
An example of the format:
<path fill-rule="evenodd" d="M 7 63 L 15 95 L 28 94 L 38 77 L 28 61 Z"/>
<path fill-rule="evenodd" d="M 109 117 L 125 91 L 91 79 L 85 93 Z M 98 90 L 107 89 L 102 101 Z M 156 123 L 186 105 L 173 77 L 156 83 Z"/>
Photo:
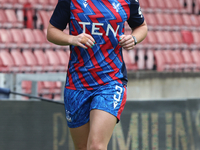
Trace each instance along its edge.
<path fill-rule="evenodd" d="M 92 47 L 95 41 L 91 35 L 82 33 L 75 36 L 63 32 L 70 22 L 70 2 L 70 0 L 58 1 L 49 22 L 47 39 L 57 45 L 74 45 L 85 49 Z"/>

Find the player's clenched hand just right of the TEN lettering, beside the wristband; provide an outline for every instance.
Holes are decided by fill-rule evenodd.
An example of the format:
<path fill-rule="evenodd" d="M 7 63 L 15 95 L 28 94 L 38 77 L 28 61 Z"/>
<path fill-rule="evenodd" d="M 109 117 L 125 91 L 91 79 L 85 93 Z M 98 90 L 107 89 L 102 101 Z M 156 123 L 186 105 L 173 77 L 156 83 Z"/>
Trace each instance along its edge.
<path fill-rule="evenodd" d="M 132 50 L 135 47 L 135 42 L 132 35 L 122 35 L 119 37 L 119 45 L 125 50 Z"/>

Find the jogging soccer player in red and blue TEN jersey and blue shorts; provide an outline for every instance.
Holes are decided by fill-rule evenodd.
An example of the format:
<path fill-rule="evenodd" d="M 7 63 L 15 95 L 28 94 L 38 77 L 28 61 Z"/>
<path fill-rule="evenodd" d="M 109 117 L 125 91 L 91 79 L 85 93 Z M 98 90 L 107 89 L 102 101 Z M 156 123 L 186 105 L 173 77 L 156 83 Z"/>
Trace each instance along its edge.
<path fill-rule="evenodd" d="M 131 35 L 124 35 L 125 21 Z M 107 150 L 126 102 L 122 48 L 132 50 L 146 34 L 138 0 L 58 1 L 47 39 L 70 45 L 64 102 L 76 150 Z"/>

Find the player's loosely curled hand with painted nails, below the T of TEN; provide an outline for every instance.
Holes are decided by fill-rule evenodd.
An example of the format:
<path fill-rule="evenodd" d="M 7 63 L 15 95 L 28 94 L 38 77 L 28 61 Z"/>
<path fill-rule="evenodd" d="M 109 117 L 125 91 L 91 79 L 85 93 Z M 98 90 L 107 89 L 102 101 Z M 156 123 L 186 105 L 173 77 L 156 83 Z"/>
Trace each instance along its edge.
<path fill-rule="evenodd" d="M 87 47 L 93 47 L 95 43 L 94 38 L 86 33 L 81 33 L 77 36 L 73 36 L 71 39 L 71 44 L 74 46 L 80 46 L 82 48 L 87 49 Z"/>

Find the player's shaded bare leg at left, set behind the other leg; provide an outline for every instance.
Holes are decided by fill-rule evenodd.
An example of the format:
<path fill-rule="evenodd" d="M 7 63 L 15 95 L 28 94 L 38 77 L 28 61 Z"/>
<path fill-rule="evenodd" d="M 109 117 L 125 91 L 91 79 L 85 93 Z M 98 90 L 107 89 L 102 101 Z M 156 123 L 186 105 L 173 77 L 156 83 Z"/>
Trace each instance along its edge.
<path fill-rule="evenodd" d="M 69 128 L 69 130 L 74 142 L 75 150 L 87 150 L 89 122 L 77 128 Z"/>

